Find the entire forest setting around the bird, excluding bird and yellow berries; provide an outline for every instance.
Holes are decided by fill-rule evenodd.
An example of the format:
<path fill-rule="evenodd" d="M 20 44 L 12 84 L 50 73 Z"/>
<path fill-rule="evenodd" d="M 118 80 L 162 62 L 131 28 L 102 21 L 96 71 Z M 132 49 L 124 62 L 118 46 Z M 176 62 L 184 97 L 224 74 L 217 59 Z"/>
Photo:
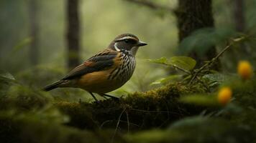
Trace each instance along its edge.
<path fill-rule="evenodd" d="M 239 61 L 256 64 L 256 0 L 1 0 L 0 23 L 5 142 L 256 142 L 255 76 L 236 74 Z M 39 91 L 123 33 L 148 45 L 132 79 L 110 93 L 125 95 L 121 103 L 102 109 L 82 89 Z M 210 95 L 224 86 L 232 103 L 216 106 Z M 196 96 L 180 102 L 185 94 Z"/>

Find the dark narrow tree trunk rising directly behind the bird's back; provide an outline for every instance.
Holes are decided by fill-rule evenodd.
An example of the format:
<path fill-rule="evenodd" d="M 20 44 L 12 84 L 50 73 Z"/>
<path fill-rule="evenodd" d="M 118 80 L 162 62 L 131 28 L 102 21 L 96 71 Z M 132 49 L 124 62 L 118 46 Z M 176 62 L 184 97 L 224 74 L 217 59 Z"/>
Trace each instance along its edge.
<path fill-rule="evenodd" d="M 80 21 L 79 0 L 67 0 L 67 44 L 68 44 L 68 69 L 73 69 L 80 64 Z"/>

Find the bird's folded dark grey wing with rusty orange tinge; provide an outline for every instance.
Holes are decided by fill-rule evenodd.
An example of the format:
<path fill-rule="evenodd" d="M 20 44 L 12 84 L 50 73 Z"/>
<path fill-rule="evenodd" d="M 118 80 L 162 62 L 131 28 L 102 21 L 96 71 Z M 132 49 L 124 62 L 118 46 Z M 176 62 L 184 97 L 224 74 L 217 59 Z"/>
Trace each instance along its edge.
<path fill-rule="evenodd" d="M 75 79 L 93 71 L 109 69 L 112 65 L 114 65 L 114 58 L 117 54 L 117 51 L 111 49 L 101 51 L 100 53 L 92 56 L 90 59 L 87 59 L 85 62 L 83 62 L 83 64 L 70 71 L 68 75 L 63 78 L 63 80 Z"/>

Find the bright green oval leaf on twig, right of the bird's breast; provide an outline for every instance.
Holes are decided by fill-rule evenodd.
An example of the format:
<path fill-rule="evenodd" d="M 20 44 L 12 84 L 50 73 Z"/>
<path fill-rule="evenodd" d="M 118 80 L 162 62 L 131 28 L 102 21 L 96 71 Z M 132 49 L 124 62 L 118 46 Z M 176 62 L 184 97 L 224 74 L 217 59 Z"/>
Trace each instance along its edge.
<path fill-rule="evenodd" d="M 170 58 L 169 64 L 189 71 L 196 66 L 196 60 L 188 56 L 173 56 Z"/>

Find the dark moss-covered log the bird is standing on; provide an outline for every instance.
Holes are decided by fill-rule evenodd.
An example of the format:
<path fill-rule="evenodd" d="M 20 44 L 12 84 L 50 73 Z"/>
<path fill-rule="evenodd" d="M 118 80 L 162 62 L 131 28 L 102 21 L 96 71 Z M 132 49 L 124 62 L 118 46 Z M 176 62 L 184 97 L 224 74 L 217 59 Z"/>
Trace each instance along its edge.
<path fill-rule="evenodd" d="M 115 128 L 150 129 L 166 127 L 183 117 L 199 114 L 203 109 L 178 102 L 183 94 L 202 92 L 199 87 L 186 87 L 182 84 L 169 84 L 166 87 L 148 92 L 135 92 L 119 101 L 113 99 L 93 103 L 55 102 L 55 106 L 68 114 L 70 126 L 81 129 Z M 121 122 L 120 122 L 121 121 Z"/>

